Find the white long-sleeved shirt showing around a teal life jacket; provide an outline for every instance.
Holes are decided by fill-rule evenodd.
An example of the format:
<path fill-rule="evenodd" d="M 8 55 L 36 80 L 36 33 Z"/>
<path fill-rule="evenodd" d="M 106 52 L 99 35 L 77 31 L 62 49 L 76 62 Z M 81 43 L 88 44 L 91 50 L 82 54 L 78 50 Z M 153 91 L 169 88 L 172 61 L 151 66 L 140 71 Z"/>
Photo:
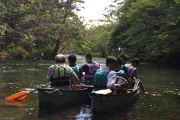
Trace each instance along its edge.
<path fill-rule="evenodd" d="M 109 68 L 103 67 L 99 69 L 99 72 L 104 72 L 107 71 Z M 107 88 L 115 88 L 114 84 L 116 82 L 116 72 L 115 71 L 110 71 L 107 75 Z"/>

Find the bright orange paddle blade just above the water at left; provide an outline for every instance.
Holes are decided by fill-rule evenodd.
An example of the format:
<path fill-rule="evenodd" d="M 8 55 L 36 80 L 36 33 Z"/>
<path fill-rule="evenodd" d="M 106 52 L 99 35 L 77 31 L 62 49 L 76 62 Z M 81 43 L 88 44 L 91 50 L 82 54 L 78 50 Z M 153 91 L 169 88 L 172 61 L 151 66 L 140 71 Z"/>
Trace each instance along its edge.
<path fill-rule="evenodd" d="M 23 99 L 25 99 L 27 94 L 29 94 L 29 92 L 18 92 L 18 93 L 13 94 L 13 95 L 11 95 L 9 97 L 6 97 L 4 100 L 5 101 L 14 100 L 14 99 L 23 100 Z"/>

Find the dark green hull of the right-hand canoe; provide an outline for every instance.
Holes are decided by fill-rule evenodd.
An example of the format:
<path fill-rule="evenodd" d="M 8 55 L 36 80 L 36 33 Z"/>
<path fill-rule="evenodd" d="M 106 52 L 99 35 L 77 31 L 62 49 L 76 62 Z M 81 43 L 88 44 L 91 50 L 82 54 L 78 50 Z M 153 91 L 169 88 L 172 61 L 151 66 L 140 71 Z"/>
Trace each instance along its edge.
<path fill-rule="evenodd" d="M 91 94 L 91 109 L 96 112 L 107 112 L 132 104 L 139 94 L 139 87 L 136 85 L 131 91 L 124 94 Z"/>

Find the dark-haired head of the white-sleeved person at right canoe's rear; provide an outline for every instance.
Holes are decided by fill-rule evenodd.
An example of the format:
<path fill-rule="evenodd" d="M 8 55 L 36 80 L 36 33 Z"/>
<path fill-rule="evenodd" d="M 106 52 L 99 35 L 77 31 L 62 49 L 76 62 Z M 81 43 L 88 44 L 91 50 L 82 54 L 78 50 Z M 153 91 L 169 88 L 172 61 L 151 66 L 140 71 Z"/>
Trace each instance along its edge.
<path fill-rule="evenodd" d="M 107 56 L 106 57 L 106 66 L 112 70 L 116 69 L 117 62 L 118 62 L 118 60 L 114 56 Z"/>

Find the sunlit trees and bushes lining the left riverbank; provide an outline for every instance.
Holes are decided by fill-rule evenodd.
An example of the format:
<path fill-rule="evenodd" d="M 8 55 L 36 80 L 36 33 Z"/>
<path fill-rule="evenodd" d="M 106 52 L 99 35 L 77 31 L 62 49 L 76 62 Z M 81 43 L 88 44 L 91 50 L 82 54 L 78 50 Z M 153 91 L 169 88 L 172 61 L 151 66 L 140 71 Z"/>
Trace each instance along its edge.
<path fill-rule="evenodd" d="M 82 0 L 1 0 L 0 56 L 10 59 L 51 59 L 71 51 L 83 38 L 75 11 Z"/>

